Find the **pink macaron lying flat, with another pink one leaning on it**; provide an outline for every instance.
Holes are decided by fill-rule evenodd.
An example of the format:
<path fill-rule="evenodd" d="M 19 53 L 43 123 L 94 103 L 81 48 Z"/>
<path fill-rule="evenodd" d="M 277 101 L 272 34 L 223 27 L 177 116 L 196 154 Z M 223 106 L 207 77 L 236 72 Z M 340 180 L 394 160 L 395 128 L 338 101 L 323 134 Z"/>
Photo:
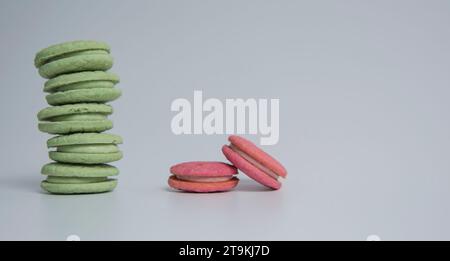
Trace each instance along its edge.
<path fill-rule="evenodd" d="M 237 169 L 223 162 L 193 161 L 170 168 L 169 186 L 188 192 L 220 192 L 236 187 Z"/>

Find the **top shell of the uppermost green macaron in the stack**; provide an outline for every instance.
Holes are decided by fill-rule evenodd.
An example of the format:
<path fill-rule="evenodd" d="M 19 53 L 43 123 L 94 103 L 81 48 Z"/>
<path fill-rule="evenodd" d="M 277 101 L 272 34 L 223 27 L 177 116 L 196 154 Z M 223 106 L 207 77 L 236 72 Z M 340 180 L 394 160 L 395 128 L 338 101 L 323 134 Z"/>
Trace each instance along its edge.
<path fill-rule="evenodd" d="M 106 51 L 109 53 L 110 47 L 108 44 L 103 42 L 85 40 L 55 44 L 39 51 L 34 59 L 34 65 L 36 66 L 36 68 L 39 68 L 49 61 L 64 55 L 95 50 Z"/>

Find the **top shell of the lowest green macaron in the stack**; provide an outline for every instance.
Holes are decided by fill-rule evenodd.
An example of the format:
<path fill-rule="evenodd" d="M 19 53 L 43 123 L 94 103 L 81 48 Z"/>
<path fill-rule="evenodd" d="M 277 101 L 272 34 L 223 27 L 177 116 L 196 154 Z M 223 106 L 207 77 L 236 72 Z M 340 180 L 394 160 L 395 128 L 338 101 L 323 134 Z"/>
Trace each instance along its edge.
<path fill-rule="evenodd" d="M 119 169 L 108 164 L 82 165 L 52 162 L 45 164 L 41 173 L 52 177 L 101 178 L 116 176 Z"/>

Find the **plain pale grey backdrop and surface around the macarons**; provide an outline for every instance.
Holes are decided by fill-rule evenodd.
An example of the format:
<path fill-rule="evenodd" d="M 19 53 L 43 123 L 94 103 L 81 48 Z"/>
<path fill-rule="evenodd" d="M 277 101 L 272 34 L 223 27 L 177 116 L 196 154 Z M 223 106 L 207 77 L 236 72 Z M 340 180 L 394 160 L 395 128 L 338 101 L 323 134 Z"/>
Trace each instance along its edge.
<path fill-rule="evenodd" d="M 450 239 L 450 2 L 1 1 L 0 239 Z M 35 53 L 112 46 L 124 137 L 113 193 L 54 196 Z M 169 167 L 224 160 L 226 135 L 175 136 L 173 99 L 279 98 L 289 176 L 271 192 L 168 190 Z M 257 136 L 250 136 L 257 140 Z"/>

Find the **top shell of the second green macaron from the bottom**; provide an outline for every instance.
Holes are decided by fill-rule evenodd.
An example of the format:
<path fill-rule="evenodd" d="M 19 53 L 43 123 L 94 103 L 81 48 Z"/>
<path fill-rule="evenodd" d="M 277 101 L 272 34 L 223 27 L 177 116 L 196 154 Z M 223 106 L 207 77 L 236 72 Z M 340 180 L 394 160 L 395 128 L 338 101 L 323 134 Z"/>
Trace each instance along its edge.
<path fill-rule="evenodd" d="M 110 133 L 76 133 L 56 136 L 47 140 L 47 147 L 78 144 L 121 144 L 122 137 Z"/>

